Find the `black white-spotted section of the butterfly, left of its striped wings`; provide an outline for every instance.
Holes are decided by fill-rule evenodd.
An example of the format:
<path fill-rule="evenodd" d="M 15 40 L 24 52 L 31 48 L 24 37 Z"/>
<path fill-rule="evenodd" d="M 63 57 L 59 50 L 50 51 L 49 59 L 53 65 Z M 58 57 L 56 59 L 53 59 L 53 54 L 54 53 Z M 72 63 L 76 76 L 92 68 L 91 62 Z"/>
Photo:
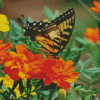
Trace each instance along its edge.
<path fill-rule="evenodd" d="M 35 37 L 37 35 L 48 36 L 47 34 L 45 34 L 45 32 L 42 31 L 42 29 L 48 25 L 49 25 L 48 22 L 42 22 L 42 21 L 39 22 L 34 21 L 32 23 L 28 23 L 25 27 L 23 27 L 23 29 L 26 30 L 24 34 L 25 36 L 29 36 L 32 41 L 35 41 Z"/>

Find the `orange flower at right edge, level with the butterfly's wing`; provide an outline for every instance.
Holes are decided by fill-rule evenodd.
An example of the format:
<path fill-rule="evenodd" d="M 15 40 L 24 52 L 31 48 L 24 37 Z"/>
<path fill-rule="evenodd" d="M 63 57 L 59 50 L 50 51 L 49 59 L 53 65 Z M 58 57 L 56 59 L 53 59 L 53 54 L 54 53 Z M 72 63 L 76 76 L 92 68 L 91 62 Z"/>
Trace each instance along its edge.
<path fill-rule="evenodd" d="M 97 44 L 97 42 L 100 41 L 100 33 L 98 27 L 96 29 L 87 28 L 84 35 L 86 36 L 86 39 L 88 41 L 91 41 L 95 44 Z"/>

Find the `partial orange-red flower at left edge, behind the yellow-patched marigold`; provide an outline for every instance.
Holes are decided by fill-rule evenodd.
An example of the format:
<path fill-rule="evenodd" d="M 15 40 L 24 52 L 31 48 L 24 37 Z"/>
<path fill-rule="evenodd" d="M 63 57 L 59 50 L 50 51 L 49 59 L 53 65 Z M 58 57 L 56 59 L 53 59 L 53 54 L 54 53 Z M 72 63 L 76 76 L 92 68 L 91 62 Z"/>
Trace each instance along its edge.
<path fill-rule="evenodd" d="M 10 49 L 11 47 L 13 47 L 13 45 L 11 45 L 10 42 L 7 43 L 7 44 L 4 44 L 4 43 L 3 43 L 3 40 L 0 39 L 0 56 L 1 56 L 1 54 L 4 55 L 4 54 L 5 54 L 5 51 L 7 51 L 8 49 Z M 2 61 L 2 59 L 3 59 L 3 57 L 1 57 L 1 59 L 0 59 L 0 65 L 1 65 L 2 63 L 4 63 L 4 62 Z"/>

